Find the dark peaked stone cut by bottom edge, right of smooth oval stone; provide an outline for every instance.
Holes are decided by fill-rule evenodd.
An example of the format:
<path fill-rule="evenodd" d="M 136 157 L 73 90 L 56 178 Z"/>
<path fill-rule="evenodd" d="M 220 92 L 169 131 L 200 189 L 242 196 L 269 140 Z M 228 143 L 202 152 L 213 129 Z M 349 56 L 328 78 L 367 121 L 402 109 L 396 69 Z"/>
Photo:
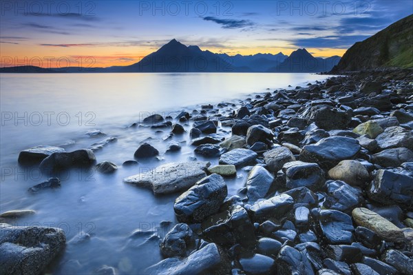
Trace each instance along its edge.
<path fill-rule="evenodd" d="M 288 245 L 282 247 L 275 261 L 277 274 L 315 274 L 304 253 Z"/>

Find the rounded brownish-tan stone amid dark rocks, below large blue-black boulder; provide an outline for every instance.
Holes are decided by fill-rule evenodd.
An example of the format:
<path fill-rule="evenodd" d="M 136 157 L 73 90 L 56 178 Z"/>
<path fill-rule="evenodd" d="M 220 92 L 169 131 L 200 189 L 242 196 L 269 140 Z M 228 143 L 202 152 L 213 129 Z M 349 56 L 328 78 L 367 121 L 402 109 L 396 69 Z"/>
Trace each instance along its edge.
<path fill-rule="evenodd" d="M 345 181 L 350 185 L 363 186 L 370 179 L 370 174 L 359 161 L 340 161 L 328 170 L 330 179 Z"/>

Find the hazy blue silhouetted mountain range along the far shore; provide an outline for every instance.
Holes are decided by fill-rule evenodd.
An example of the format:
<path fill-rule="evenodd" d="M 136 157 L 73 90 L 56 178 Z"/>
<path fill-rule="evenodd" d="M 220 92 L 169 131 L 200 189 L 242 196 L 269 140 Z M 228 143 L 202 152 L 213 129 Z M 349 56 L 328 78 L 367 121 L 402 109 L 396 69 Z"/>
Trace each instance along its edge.
<path fill-rule="evenodd" d="M 306 49 L 298 49 L 289 57 L 282 52 L 229 56 L 201 50 L 197 45 L 187 46 L 172 39 L 132 65 L 50 69 L 18 66 L 0 68 L 0 72 L 328 72 L 339 60 L 338 56 L 326 59 L 313 57 Z"/>

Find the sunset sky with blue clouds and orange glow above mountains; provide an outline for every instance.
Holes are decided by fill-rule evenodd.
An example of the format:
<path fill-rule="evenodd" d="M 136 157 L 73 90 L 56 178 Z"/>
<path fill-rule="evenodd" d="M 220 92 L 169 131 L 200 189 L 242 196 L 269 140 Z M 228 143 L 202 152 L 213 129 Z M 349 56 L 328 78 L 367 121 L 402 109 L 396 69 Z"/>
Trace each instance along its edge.
<path fill-rule="evenodd" d="M 342 56 L 413 13 L 412 0 L 7 1 L 0 66 L 130 65 L 171 39 L 235 54 Z"/>

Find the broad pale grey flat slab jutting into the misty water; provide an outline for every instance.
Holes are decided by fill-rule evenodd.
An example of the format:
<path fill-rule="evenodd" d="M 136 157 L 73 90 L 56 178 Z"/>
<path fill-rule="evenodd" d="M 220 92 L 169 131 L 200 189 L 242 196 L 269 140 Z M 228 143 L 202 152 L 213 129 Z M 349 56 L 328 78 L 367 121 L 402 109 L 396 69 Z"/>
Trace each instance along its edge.
<path fill-rule="evenodd" d="M 123 181 L 150 188 L 155 194 L 169 194 L 187 190 L 207 176 L 205 170 L 209 165 L 208 161 L 168 163 L 146 173 L 128 176 Z"/>

